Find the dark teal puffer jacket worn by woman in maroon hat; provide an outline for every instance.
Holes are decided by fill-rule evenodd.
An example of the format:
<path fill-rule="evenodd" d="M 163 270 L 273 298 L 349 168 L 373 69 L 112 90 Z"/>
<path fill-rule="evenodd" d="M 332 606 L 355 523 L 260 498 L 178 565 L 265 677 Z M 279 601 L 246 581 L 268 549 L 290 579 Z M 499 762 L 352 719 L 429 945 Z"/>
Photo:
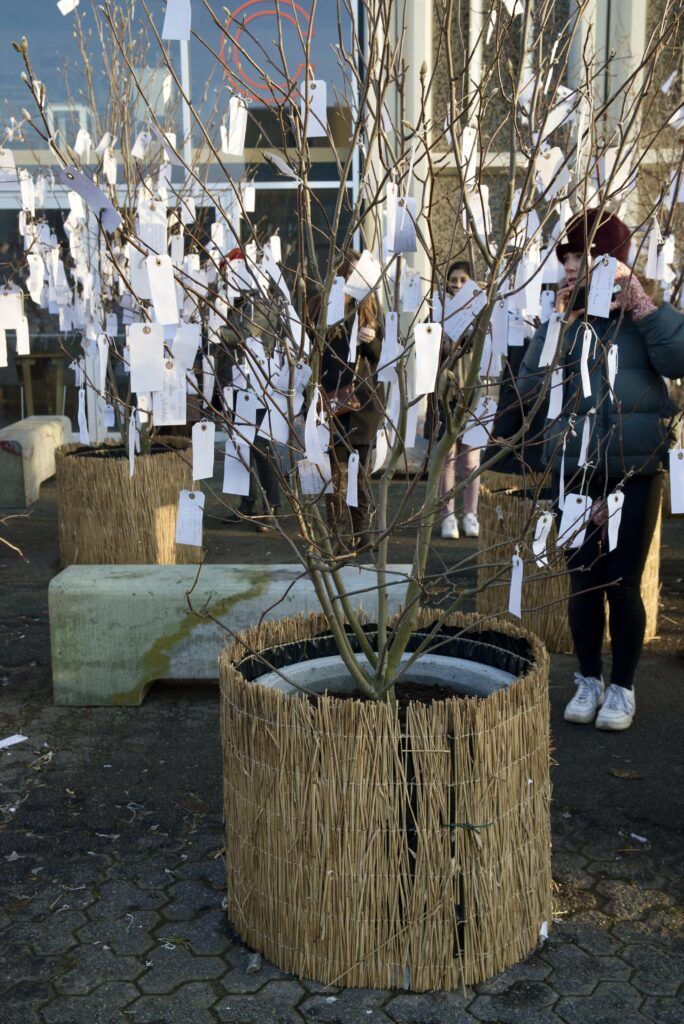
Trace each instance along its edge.
<path fill-rule="evenodd" d="M 563 367 L 563 406 L 557 420 L 548 420 L 544 438 L 544 462 L 560 467 L 563 435 L 566 434 L 565 470 L 578 469 L 582 443 L 582 417 L 590 410 L 592 431 L 589 461 L 606 477 L 622 477 L 628 471 L 641 476 L 657 472 L 671 438 L 668 417 L 677 408 L 668 394 L 664 377 L 684 375 L 684 316 L 669 303 L 635 322 L 629 313 L 589 317 L 598 335 L 589 357 L 591 398 L 582 393 L 581 354 L 584 321 L 578 318 L 565 331 L 559 366 Z M 549 368 L 539 361 L 547 325 L 539 328 L 520 367 L 517 385 L 521 396 L 533 399 Z M 606 352 L 617 345 L 618 366 L 614 404 L 610 400 Z M 574 436 L 568 431 L 575 416 Z"/>

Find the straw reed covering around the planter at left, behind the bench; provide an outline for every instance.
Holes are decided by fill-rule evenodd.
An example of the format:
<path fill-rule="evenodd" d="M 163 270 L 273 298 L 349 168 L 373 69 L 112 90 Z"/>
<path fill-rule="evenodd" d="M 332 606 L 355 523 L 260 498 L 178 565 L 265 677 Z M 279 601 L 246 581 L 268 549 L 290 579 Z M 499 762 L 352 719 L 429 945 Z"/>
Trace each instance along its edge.
<path fill-rule="evenodd" d="M 186 564 L 202 548 L 176 545 L 178 495 L 193 489 L 190 441 L 164 437 L 166 452 L 128 458 L 79 458 L 57 449 L 57 507 L 62 565 Z M 103 444 L 106 450 L 112 444 Z"/>

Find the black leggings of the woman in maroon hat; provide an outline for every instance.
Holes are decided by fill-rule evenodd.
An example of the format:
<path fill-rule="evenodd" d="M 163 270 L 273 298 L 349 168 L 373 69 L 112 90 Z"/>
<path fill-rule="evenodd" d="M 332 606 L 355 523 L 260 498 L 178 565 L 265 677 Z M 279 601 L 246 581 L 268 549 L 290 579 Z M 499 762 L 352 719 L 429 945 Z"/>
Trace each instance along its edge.
<path fill-rule="evenodd" d="M 557 481 L 556 481 L 557 482 Z M 593 481 L 589 494 L 601 498 L 617 486 Z M 624 486 L 625 504 L 617 546 L 608 551 L 600 526 L 587 526 L 581 548 L 566 550 L 570 570 L 568 617 L 572 642 L 583 676 L 599 678 L 608 600 L 612 667 L 610 682 L 630 688 L 641 656 L 646 612 L 641 599 L 641 575 L 648 555 L 660 504 L 661 477 L 633 476 Z"/>

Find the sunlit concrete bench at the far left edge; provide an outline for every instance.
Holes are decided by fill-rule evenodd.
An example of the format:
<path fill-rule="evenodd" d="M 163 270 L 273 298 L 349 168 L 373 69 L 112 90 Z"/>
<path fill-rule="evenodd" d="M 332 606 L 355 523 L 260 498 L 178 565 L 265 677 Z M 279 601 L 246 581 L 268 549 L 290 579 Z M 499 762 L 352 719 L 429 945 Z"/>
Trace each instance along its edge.
<path fill-rule="evenodd" d="M 28 416 L 0 430 L 0 508 L 24 509 L 38 501 L 54 476 L 54 452 L 72 439 L 67 416 Z"/>

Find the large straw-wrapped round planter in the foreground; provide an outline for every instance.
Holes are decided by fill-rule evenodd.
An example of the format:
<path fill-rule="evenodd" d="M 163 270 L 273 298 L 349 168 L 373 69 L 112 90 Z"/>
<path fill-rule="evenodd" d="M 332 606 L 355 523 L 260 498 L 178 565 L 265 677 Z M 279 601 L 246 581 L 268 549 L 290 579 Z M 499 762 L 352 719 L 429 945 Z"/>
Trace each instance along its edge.
<path fill-rule="evenodd" d="M 433 621 L 421 613 L 410 649 Z M 450 618 L 410 671 L 454 693 L 431 703 L 336 696 L 351 684 L 322 615 L 265 623 L 221 655 L 227 910 L 279 967 L 426 991 L 537 946 L 551 920 L 548 655 L 519 628 L 473 623 Z"/>

